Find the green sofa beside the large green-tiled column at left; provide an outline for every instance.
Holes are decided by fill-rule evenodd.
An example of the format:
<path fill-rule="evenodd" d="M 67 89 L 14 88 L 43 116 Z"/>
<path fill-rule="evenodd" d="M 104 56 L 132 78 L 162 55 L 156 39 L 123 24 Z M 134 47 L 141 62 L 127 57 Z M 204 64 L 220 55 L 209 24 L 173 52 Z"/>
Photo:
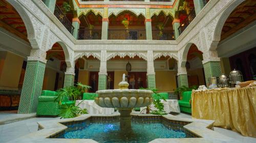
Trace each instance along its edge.
<path fill-rule="evenodd" d="M 36 115 L 38 116 L 57 116 L 60 113 L 60 104 L 55 101 L 56 96 L 55 91 L 42 91 L 41 95 L 38 97 L 38 105 L 36 110 Z M 66 98 L 61 102 L 61 105 L 67 104 L 71 105 L 74 101 L 69 101 Z"/>

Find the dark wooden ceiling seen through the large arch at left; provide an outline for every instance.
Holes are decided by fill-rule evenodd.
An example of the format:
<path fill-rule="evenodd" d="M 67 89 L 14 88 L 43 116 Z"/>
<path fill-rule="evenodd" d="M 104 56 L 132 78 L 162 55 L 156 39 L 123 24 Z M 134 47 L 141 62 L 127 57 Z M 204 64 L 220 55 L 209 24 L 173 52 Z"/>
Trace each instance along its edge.
<path fill-rule="evenodd" d="M 18 12 L 6 1 L 0 1 L 0 26 L 28 41 L 27 30 Z"/>

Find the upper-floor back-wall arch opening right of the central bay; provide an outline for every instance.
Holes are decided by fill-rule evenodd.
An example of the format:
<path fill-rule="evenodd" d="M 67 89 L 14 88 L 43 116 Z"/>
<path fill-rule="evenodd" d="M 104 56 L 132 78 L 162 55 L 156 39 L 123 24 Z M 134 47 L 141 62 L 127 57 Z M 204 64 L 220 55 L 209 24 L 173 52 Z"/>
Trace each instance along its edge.
<path fill-rule="evenodd" d="M 160 12 L 152 16 L 153 40 L 175 40 L 173 31 L 173 17 Z"/>

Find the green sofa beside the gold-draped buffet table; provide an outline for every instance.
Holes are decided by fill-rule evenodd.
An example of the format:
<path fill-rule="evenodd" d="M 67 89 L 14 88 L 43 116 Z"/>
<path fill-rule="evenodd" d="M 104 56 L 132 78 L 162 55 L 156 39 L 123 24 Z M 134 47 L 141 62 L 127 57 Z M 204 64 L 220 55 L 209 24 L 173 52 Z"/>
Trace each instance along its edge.
<path fill-rule="evenodd" d="M 182 100 L 179 100 L 180 111 L 191 113 L 191 91 L 183 92 Z"/>

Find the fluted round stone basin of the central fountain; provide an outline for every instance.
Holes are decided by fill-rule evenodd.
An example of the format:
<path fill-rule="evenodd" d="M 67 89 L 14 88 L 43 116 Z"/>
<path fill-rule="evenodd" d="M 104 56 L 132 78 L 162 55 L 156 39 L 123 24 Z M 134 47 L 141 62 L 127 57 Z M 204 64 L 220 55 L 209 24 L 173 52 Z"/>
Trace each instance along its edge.
<path fill-rule="evenodd" d="M 98 97 L 95 102 L 101 107 L 131 109 L 134 107 L 145 107 L 152 99 L 152 91 L 115 89 L 101 90 L 96 92 Z"/>

